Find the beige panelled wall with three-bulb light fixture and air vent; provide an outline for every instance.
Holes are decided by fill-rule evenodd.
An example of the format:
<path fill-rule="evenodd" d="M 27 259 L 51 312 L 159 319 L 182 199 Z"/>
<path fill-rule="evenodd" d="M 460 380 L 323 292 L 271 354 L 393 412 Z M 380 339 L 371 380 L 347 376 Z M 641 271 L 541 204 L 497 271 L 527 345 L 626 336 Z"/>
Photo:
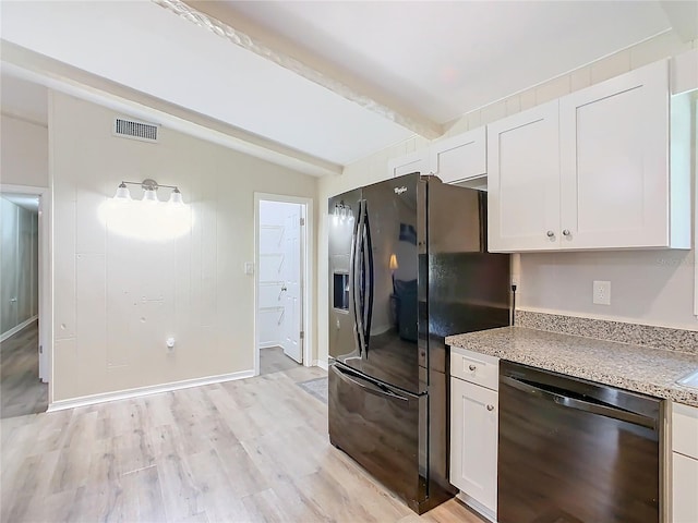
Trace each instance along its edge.
<path fill-rule="evenodd" d="M 53 401 L 251 370 L 253 193 L 314 198 L 317 180 L 168 129 L 117 138 L 112 111 L 51 96 Z M 99 220 L 121 180 L 145 178 L 179 185 L 189 233 L 141 241 Z"/>

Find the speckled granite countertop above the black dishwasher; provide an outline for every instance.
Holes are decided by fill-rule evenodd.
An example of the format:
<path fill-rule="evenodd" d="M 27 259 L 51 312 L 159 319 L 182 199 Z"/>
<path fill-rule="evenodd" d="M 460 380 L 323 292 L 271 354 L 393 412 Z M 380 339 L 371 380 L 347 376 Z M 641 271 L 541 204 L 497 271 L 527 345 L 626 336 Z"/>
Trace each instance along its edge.
<path fill-rule="evenodd" d="M 698 406 L 698 389 L 676 384 L 698 370 L 698 354 L 524 327 L 449 336 L 446 344 Z"/>

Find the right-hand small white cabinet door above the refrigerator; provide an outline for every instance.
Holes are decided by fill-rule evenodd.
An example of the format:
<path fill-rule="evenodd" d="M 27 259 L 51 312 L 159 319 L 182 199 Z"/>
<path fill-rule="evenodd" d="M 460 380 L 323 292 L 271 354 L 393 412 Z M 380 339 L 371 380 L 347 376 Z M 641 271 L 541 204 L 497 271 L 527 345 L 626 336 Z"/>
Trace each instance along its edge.
<path fill-rule="evenodd" d="M 488 173 L 485 127 L 434 142 L 430 148 L 431 169 L 442 182 L 459 182 Z"/>

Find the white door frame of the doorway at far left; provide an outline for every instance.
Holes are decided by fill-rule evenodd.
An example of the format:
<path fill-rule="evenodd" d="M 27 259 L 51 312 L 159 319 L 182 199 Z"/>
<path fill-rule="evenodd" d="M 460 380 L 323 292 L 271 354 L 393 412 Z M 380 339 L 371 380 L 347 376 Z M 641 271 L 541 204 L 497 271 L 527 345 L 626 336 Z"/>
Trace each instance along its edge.
<path fill-rule="evenodd" d="M 51 190 L 33 185 L 0 183 L 0 193 L 31 194 L 39 197 L 39 377 L 48 382 L 48 404 L 53 401 L 53 256 Z"/>

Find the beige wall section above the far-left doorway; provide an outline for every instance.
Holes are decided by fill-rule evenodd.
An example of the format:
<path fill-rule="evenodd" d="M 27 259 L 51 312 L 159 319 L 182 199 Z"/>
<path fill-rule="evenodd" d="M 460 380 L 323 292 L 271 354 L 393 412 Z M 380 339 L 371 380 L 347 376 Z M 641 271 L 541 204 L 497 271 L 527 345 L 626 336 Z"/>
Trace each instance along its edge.
<path fill-rule="evenodd" d="M 2 114 L 0 133 L 0 183 L 47 187 L 48 130 Z"/>

